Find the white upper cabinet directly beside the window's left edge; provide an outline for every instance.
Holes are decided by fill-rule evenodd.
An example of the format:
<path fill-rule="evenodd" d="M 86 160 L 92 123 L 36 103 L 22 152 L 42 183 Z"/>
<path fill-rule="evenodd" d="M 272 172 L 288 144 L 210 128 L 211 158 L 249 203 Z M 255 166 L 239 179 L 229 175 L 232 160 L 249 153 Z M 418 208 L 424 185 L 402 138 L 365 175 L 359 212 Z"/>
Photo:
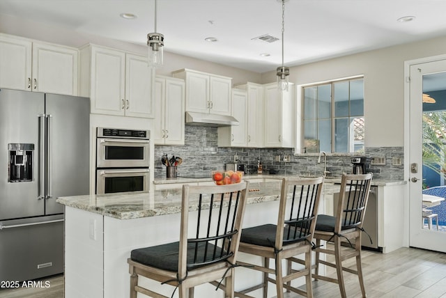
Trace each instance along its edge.
<path fill-rule="evenodd" d="M 265 147 L 294 146 L 294 85 L 279 91 L 277 84 L 265 85 Z"/>

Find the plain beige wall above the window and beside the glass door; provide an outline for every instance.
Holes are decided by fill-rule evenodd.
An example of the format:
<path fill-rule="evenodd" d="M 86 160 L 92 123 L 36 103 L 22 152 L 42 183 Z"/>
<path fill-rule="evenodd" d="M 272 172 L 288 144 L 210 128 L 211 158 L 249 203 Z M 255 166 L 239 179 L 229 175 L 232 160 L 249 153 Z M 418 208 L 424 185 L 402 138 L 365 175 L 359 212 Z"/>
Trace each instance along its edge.
<path fill-rule="evenodd" d="M 446 52 L 446 37 L 353 54 L 290 68 L 290 81 L 309 84 L 364 75 L 367 147 L 404 146 L 404 61 Z M 275 72 L 262 75 L 262 83 Z"/>

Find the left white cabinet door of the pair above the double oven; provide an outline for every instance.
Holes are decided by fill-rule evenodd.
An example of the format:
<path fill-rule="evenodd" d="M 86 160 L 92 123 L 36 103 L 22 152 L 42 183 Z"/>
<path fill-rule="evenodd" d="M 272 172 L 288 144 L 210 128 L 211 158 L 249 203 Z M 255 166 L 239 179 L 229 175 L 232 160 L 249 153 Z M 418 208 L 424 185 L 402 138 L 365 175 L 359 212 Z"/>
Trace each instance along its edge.
<path fill-rule="evenodd" d="M 91 47 L 91 113 L 125 113 L 125 53 Z"/>

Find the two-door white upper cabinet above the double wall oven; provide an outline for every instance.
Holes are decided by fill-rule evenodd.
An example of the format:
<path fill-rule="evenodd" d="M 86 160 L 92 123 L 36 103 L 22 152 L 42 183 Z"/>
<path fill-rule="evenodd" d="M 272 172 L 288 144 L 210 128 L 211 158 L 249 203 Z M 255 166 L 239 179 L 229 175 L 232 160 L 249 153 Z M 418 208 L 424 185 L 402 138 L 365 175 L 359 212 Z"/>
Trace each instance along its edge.
<path fill-rule="evenodd" d="M 80 95 L 90 97 L 91 113 L 153 118 L 153 68 L 147 58 L 98 45 L 80 50 Z"/>

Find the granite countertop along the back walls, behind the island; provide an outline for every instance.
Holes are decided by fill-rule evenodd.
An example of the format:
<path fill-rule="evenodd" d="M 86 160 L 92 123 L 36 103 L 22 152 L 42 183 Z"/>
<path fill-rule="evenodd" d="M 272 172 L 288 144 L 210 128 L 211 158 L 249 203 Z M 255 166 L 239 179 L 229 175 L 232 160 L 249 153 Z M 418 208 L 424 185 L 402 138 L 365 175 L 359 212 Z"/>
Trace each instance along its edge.
<path fill-rule="evenodd" d="M 270 174 L 255 174 L 255 175 L 245 175 L 244 178 L 249 179 L 282 179 L 289 177 L 289 175 L 270 175 Z M 155 185 L 166 185 L 166 184 L 176 184 L 176 183 L 191 183 L 191 182 L 210 182 L 212 179 L 209 178 L 160 178 L 154 179 L 153 184 Z M 341 183 L 341 177 L 329 177 L 325 178 L 326 183 Z M 406 180 L 397 179 L 372 179 L 372 186 L 392 186 L 392 185 L 405 185 Z"/>

